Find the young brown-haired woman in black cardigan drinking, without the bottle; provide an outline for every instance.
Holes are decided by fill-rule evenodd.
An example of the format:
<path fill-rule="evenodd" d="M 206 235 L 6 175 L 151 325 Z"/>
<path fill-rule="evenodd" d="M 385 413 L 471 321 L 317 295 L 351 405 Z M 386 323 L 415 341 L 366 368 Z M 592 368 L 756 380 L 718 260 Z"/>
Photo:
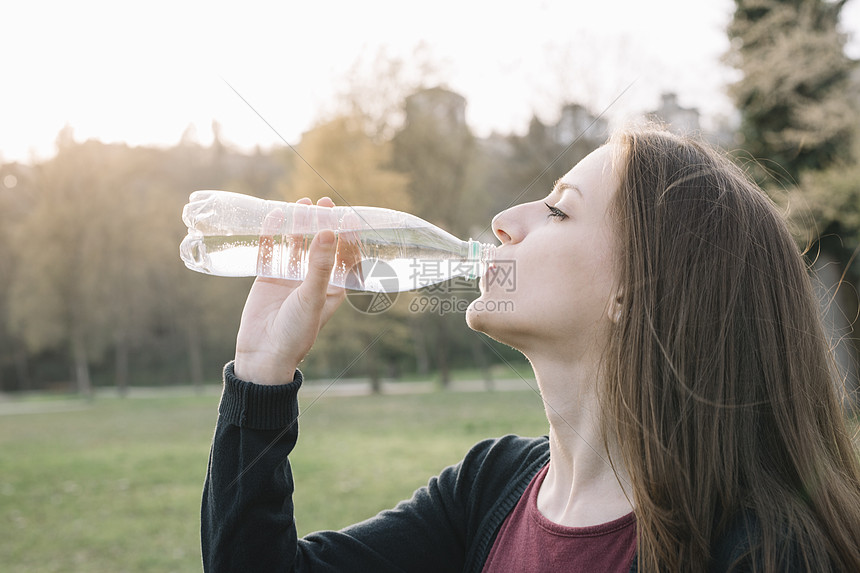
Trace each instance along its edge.
<path fill-rule="evenodd" d="M 343 299 L 320 232 L 307 280 L 258 279 L 246 303 L 207 570 L 860 571 L 860 469 L 809 278 L 731 162 L 623 131 L 493 230 L 517 288 L 491 270 L 480 300 L 513 312 L 466 318 L 528 357 L 548 437 L 481 442 L 396 508 L 297 539 L 296 367 Z"/>

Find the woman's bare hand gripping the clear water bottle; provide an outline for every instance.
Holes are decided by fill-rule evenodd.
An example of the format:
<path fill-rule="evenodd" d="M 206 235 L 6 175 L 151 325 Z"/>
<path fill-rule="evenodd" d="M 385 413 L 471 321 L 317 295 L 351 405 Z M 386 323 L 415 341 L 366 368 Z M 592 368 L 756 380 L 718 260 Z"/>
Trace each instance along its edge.
<path fill-rule="evenodd" d="M 310 205 L 310 199 L 297 203 Z M 334 207 L 328 197 L 317 205 Z M 265 241 L 268 240 L 268 243 Z M 261 252 L 272 238 L 261 238 Z M 331 230 L 316 234 L 310 246 L 304 281 L 258 277 L 251 287 L 236 338 L 237 378 L 257 384 L 293 380 L 299 362 L 313 346 L 323 325 L 343 302 L 345 291 L 328 284 L 337 240 Z"/>

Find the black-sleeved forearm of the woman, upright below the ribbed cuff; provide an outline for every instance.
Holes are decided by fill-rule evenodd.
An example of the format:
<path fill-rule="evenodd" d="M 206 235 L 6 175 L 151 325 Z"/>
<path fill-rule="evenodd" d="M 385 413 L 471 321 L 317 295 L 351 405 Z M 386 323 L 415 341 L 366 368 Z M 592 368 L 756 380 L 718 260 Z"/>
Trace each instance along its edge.
<path fill-rule="evenodd" d="M 288 454 L 298 437 L 296 393 L 224 372 L 224 394 L 203 489 L 205 571 L 289 571 L 296 554 Z"/>

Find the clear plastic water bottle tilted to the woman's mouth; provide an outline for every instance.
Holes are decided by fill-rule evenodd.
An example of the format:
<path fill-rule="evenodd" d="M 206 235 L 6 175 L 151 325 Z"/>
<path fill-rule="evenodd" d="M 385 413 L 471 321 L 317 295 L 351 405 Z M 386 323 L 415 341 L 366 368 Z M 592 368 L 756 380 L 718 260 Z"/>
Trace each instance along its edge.
<path fill-rule="evenodd" d="M 454 277 L 477 278 L 495 247 L 462 241 L 409 213 L 378 207 L 319 207 L 227 191 L 195 191 L 182 211 L 185 265 L 218 276 L 301 280 L 314 235 L 331 229 L 337 255 L 330 283 L 399 292 Z"/>

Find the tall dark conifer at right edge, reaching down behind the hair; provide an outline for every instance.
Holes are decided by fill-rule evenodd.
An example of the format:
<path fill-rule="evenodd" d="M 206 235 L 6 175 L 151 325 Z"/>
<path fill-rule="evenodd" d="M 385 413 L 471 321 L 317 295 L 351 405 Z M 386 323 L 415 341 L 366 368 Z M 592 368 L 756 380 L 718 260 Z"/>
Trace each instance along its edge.
<path fill-rule="evenodd" d="M 735 0 L 728 32 L 729 60 L 743 74 L 731 93 L 741 112 L 744 147 L 775 174 L 760 169 L 757 178 L 772 194 L 793 188 L 794 204 L 812 206 L 823 216 L 813 225 L 811 262 L 840 369 L 848 386 L 855 386 L 858 349 L 846 335 L 857 299 L 841 288 L 852 255 L 840 235 L 856 232 L 851 229 L 856 191 L 832 172 L 852 163 L 860 136 L 857 91 L 850 89 L 857 63 L 845 54 L 845 36 L 838 29 L 845 3 Z M 838 270 L 831 273 L 834 265 Z"/>

